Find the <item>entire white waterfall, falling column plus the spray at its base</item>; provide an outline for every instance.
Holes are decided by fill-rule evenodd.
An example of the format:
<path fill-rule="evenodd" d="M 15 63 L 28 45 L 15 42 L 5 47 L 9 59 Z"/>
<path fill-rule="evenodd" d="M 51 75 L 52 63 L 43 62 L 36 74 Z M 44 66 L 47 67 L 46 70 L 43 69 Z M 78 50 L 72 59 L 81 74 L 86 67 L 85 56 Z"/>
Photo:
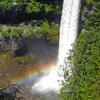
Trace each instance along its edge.
<path fill-rule="evenodd" d="M 69 50 L 72 49 L 71 45 L 77 36 L 79 6 L 80 0 L 64 0 L 63 3 L 58 55 L 58 65 L 62 67 L 65 66 L 64 60 L 68 58 Z M 58 67 L 42 77 L 39 82 L 33 85 L 33 91 L 59 90 L 57 71 Z"/>

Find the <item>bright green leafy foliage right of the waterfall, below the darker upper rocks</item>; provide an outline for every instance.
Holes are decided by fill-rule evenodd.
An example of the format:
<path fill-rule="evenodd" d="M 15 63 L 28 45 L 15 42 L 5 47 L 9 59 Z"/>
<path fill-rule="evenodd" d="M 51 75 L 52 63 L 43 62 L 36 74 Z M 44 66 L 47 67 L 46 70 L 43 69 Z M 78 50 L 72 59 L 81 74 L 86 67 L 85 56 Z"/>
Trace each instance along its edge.
<path fill-rule="evenodd" d="M 100 79 L 100 35 L 98 32 L 88 31 L 81 33 L 76 41 L 73 52 L 72 64 L 73 77 L 65 88 L 64 98 L 68 100 L 99 100 Z M 64 99 L 64 100 L 66 100 Z"/>

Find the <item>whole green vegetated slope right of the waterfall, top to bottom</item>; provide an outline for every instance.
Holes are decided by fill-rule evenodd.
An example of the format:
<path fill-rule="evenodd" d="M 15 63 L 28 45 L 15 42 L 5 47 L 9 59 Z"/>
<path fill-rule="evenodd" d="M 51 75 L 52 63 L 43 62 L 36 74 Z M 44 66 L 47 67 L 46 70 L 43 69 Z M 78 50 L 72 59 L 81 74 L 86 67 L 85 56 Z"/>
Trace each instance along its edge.
<path fill-rule="evenodd" d="M 66 80 L 64 74 L 62 100 L 100 100 L 100 2 L 85 0 L 82 5 L 82 31 L 71 52 L 72 76 Z"/>

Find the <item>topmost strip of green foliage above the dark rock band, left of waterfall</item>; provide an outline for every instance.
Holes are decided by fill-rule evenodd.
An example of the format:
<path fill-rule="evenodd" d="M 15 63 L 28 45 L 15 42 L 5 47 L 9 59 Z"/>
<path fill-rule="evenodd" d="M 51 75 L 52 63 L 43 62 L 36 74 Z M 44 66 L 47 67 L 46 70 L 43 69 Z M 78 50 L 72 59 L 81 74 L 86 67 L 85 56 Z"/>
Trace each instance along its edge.
<path fill-rule="evenodd" d="M 57 1 L 61 2 L 61 1 Z M 9 9 L 13 8 L 16 5 L 21 7 L 24 6 L 26 9 L 26 12 L 33 13 L 33 12 L 39 12 L 42 10 L 46 12 L 53 11 L 55 6 L 59 6 L 61 8 L 62 3 L 54 3 L 52 0 L 49 1 L 39 1 L 39 0 L 1 0 L 0 1 L 0 8 L 2 9 Z M 59 9 L 61 11 L 61 9 Z"/>

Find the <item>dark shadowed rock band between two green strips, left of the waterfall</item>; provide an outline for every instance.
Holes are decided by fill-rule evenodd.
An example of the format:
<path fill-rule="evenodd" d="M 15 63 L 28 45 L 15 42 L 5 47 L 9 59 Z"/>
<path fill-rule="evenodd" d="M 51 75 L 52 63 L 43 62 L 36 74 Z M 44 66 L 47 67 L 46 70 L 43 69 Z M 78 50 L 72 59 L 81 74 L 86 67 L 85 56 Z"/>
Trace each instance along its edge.
<path fill-rule="evenodd" d="M 32 12 L 27 13 L 25 7 L 15 6 L 12 9 L 4 10 L 0 9 L 0 23 L 1 24 L 10 24 L 16 25 L 22 22 L 28 23 L 31 20 L 45 20 L 47 19 L 51 22 L 60 22 L 61 14 L 58 14 L 55 11 L 51 12 Z"/>

